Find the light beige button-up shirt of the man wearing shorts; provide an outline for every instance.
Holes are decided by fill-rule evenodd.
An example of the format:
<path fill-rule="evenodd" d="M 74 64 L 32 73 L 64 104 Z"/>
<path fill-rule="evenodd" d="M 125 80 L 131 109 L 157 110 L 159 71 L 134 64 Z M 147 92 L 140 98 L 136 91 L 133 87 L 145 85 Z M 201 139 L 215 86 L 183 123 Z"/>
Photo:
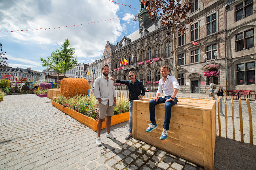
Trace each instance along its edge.
<path fill-rule="evenodd" d="M 107 81 L 103 74 L 95 79 L 94 96 L 96 100 L 97 98 L 101 98 L 101 103 L 104 105 L 107 103 L 109 106 L 114 105 L 114 97 L 116 97 L 114 81 L 110 79 Z M 99 104 L 99 100 L 97 102 Z"/>

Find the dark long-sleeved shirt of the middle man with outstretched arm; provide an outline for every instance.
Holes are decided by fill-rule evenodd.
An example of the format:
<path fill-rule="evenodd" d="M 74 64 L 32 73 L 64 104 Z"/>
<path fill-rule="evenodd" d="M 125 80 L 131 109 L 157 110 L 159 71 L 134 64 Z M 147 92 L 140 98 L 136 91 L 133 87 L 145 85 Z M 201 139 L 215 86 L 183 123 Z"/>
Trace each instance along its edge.
<path fill-rule="evenodd" d="M 129 91 L 129 100 L 138 100 L 138 96 L 145 96 L 145 87 L 140 80 L 135 80 L 134 84 L 131 82 L 131 80 L 119 80 L 116 79 L 116 83 L 125 84 L 128 86 Z"/>

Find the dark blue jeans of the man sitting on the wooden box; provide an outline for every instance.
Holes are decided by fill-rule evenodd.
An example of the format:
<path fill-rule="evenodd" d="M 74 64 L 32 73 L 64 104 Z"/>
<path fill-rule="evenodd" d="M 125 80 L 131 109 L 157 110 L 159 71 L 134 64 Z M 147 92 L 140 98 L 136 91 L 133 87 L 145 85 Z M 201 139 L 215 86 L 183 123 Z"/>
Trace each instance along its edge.
<path fill-rule="evenodd" d="M 167 99 L 171 98 L 171 96 L 165 96 L 165 98 L 159 97 L 158 101 L 155 101 L 154 99 L 149 102 L 149 113 L 150 113 L 150 122 L 152 124 L 156 124 L 155 122 L 155 105 L 159 103 L 165 103 Z M 166 130 L 169 130 L 169 124 L 171 120 L 172 115 L 172 106 L 178 103 L 178 99 L 174 98 L 173 101 L 169 101 L 165 103 L 165 122 L 163 123 L 163 128 Z"/>

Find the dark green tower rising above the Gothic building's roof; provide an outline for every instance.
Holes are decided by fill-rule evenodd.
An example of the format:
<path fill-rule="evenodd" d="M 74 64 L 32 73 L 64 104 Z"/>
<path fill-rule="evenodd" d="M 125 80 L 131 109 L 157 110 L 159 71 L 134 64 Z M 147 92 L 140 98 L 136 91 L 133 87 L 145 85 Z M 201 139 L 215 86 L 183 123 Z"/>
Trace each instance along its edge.
<path fill-rule="evenodd" d="M 141 1 L 140 1 L 140 13 L 138 14 L 138 21 L 139 21 L 139 34 L 140 34 L 140 31 L 142 28 L 145 28 L 147 29 L 150 24 L 152 23 L 149 15 L 148 15 L 148 9 L 146 9 L 147 7 L 147 4 L 143 4 Z"/>

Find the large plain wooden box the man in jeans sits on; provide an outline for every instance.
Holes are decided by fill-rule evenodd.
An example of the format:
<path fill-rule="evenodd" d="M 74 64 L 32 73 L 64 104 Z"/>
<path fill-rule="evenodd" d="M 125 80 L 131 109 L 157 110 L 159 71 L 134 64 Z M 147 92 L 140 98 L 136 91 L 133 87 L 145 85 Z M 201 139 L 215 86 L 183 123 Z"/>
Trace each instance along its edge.
<path fill-rule="evenodd" d="M 150 123 L 148 104 L 152 99 L 133 100 L 133 137 L 214 170 L 216 100 L 178 98 L 178 104 L 172 107 L 168 137 L 161 140 L 164 103 L 155 106 L 157 129 L 145 131 Z"/>

